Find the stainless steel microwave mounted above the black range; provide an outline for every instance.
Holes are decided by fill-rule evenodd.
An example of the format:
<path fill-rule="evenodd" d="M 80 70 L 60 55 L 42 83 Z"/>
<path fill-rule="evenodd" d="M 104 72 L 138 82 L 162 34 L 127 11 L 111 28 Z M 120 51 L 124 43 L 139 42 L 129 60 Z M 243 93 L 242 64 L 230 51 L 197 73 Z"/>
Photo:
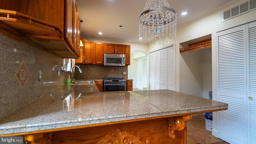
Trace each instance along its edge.
<path fill-rule="evenodd" d="M 125 54 L 104 54 L 104 66 L 125 66 Z"/>

